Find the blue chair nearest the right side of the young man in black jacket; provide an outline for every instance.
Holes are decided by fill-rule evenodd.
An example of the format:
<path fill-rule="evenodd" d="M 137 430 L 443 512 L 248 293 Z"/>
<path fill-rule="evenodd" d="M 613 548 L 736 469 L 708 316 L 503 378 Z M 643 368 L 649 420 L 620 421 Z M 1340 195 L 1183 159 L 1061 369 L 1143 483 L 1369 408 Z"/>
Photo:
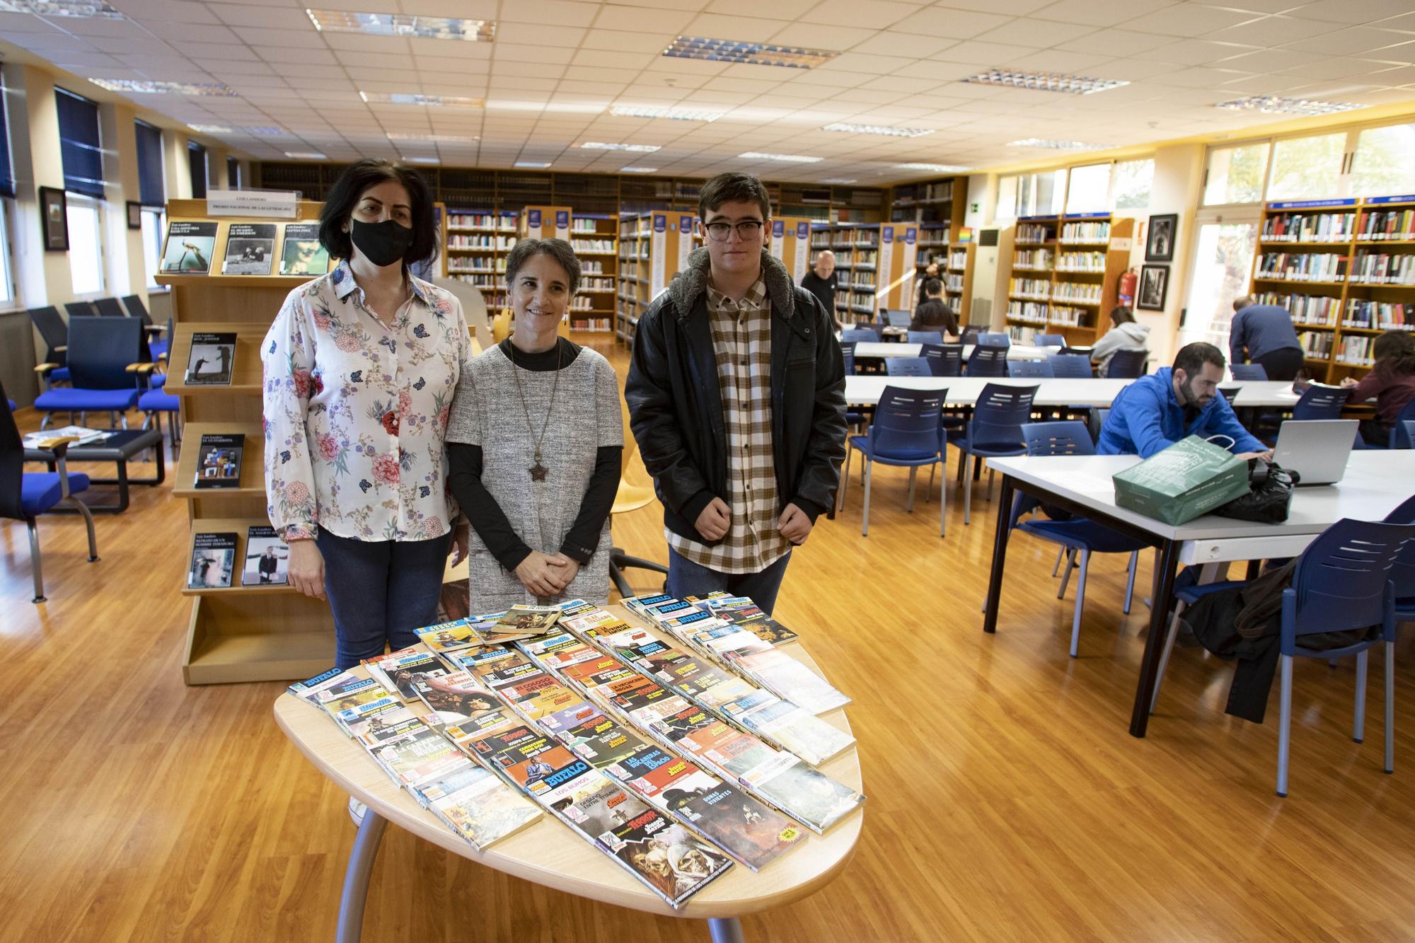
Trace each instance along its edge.
<path fill-rule="evenodd" d="M 873 463 L 893 464 L 908 469 L 908 511 L 914 511 L 914 484 L 918 469 L 942 464 L 947 443 L 938 435 L 938 418 L 942 409 L 945 389 L 903 389 L 884 387 L 879 406 L 874 408 L 874 422 L 867 435 L 849 436 L 845 452 L 845 469 L 841 473 L 841 496 L 836 513 L 845 510 L 845 488 L 850 480 L 850 453 L 859 452 L 865 462 L 862 480 L 865 484 L 865 510 L 860 520 L 860 535 L 869 537 L 870 530 L 870 469 Z M 947 474 L 940 476 L 947 490 Z M 944 494 L 938 500 L 938 535 L 945 535 L 948 501 Z"/>

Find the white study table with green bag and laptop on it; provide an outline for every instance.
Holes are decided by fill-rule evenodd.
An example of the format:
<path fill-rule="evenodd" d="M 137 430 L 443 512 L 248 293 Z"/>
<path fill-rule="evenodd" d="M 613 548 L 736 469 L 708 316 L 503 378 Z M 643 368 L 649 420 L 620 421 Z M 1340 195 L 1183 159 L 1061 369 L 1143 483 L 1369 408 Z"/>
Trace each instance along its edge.
<path fill-rule="evenodd" d="M 1002 494 L 998 498 L 998 530 L 993 538 L 992 575 L 983 616 L 983 631 L 996 631 L 1010 531 L 1007 518 L 1015 490 L 1156 547 L 1159 554 L 1149 637 L 1145 640 L 1145 658 L 1140 663 L 1135 708 L 1131 714 L 1133 736 L 1145 736 L 1149 721 L 1177 564 L 1295 556 L 1336 521 L 1344 517 L 1380 521 L 1401 501 L 1415 494 L 1415 450 L 1358 450 L 1351 453 L 1346 476 L 1337 484 L 1299 487 L 1293 494 L 1288 520 L 1282 524 L 1254 524 L 1214 514 L 1206 514 L 1186 524 L 1166 524 L 1115 504 L 1112 477 L 1138 462 L 1138 456 L 988 459 L 988 467 L 1002 474 Z"/>

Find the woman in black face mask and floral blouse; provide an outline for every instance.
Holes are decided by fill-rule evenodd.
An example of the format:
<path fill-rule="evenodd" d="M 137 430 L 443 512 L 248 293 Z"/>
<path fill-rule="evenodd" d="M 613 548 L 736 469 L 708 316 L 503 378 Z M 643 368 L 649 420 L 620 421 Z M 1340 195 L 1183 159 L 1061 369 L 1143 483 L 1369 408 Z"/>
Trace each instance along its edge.
<path fill-rule="evenodd" d="M 437 251 L 415 170 L 351 164 L 318 232 L 342 261 L 290 292 L 260 348 L 266 501 L 290 585 L 328 599 L 337 667 L 350 668 L 417 641 L 443 558 L 466 554 L 443 435 L 471 341 L 457 299 L 408 270 Z"/>

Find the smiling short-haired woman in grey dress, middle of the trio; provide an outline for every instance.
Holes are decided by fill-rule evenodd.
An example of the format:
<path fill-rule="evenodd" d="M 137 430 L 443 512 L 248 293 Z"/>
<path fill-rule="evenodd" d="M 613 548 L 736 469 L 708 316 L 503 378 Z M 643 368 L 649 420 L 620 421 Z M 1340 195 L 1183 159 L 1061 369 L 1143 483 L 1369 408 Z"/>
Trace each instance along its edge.
<path fill-rule="evenodd" d="M 580 283 L 565 239 L 507 256 L 511 337 L 471 361 L 447 421 L 447 476 L 471 520 L 471 612 L 610 592 L 610 508 L 624 447 L 618 382 L 559 337 Z"/>

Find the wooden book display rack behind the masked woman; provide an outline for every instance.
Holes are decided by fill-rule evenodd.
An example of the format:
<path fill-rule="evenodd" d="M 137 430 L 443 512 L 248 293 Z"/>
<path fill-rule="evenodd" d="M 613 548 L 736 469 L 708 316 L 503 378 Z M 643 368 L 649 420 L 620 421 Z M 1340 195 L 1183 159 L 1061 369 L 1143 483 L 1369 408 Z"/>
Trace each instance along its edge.
<path fill-rule="evenodd" d="M 320 204 L 296 204 L 299 221 L 317 219 Z M 208 217 L 205 200 L 174 200 L 170 219 L 218 222 L 215 259 L 225 258 L 231 224 L 287 222 L 250 217 Z M 283 235 L 283 234 L 282 234 Z M 185 429 L 177 459 L 173 494 L 187 500 L 188 539 L 170 552 L 181 554 L 183 593 L 191 596 L 191 620 L 183 656 L 187 684 L 284 681 L 307 678 L 334 663 L 334 619 L 328 603 L 276 586 L 241 586 L 233 568 L 229 589 L 187 589 L 191 535 L 235 532 L 238 554 L 252 525 L 269 525 L 265 498 L 265 435 L 262 425 L 260 344 L 291 289 L 308 275 L 158 275 L 171 287 L 175 319 L 167 389 L 181 396 Z M 183 382 L 194 333 L 236 334 L 229 387 L 188 387 Z M 243 436 L 241 483 L 235 488 L 195 488 L 202 435 Z M 238 556 L 238 559 L 243 559 Z"/>

